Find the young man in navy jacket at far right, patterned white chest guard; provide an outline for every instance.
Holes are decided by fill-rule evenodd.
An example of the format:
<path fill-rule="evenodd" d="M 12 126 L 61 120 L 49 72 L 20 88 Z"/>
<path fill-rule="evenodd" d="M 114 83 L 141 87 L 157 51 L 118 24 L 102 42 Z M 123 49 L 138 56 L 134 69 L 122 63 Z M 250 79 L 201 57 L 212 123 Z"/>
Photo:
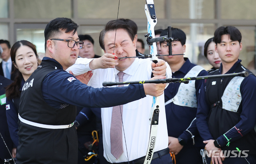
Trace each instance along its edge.
<path fill-rule="evenodd" d="M 240 31 L 233 26 L 219 27 L 214 39 L 222 64 L 209 75 L 245 71 L 238 59 L 242 50 Z M 256 77 L 250 74 L 248 77 L 207 79 L 201 87 L 197 127 L 208 153 L 215 151 L 211 154 L 213 164 L 256 163 L 255 84 Z"/>

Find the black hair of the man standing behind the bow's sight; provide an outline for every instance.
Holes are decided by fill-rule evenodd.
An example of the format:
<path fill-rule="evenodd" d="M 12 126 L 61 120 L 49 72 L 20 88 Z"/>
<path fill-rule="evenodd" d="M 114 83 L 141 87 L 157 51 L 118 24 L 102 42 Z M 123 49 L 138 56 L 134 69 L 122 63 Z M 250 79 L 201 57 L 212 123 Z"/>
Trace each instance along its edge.
<path fill-rule="evenodd" d="M 160 34 L 160 37 L 167 35 L 168 29 L 166 28 L 162 33 Z M 186 44 L 186 34 L 179 28 L 171 28 L 171 37 L 174 39 L 179 39 L 178 41 L 181 42 L 181 45 Z M 161 41 L 160 44 L 162 44 L 164 41 Z"/>

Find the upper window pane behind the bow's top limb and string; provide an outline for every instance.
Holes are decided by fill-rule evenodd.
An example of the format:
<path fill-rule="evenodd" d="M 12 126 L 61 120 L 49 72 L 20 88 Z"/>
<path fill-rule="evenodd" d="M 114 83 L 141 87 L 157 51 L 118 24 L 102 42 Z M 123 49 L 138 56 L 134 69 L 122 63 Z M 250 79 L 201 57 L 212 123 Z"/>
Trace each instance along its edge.
<path fill-rule="evenodd" d="M 78 0 L 79 18 L 107 18 L 116 19 L 118 11 L 118 0 L 93 1 Z M 119 18 L 127 19 L 146 19 L 145 0 L 126 0 L 120 1 Z M 106 7 L 107 6 L 107 7 Z M 155 1 L 156 17 L 165 18 L 165 0 Z"/>

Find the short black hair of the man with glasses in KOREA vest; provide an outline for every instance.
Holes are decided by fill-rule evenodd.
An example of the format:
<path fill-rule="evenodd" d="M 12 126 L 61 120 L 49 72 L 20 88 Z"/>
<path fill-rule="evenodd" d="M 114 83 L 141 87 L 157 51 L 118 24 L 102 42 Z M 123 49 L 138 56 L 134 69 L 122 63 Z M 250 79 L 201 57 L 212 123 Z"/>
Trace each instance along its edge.
<path fill-rule="evenodd" d="M 48 39 L 52 39 L 55 35 L 60 33 L 60 29 L 65 29 L 65 33 L 73 31 L 73 35 L 78 29 L 78 24 L 72 21 L 70 18 L 55 18 L 50 21 L 44 29 L 44 49 L 46 49 L 46 43 Z"/>

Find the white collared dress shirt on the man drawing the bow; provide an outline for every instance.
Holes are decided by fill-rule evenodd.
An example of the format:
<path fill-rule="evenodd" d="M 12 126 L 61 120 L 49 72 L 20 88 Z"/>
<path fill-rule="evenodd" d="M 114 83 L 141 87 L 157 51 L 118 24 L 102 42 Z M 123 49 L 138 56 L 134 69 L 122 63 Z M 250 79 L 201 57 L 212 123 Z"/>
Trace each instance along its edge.
<path fill-rule="evenodd" d="M 150 59 L 136 58 L 130 67 L 123 71 L 123 81 L 140 81 L 149 80 L 151 78 L 151 63 Z M 170 66 L 166 63 L 166 78 L 171 78 Z M 91 80 L 88 86 L 94 88 L 101 88 L 102 82 L 117 81 L 117 73 L 119 71 L 113 68 L 97 69 L 93 71 Z M 125 85 L 127 86 L 127 85 Z M 114 86 L 116 87 L 116 86 Z M 166 86 L 167 87 L 167 86 Z M 113 101 L 115 98 L 113 97 Z M 103 129 L 103 147 L 104 157 L 108 162 L 120 163 L 127 162 L 127 151 L 129 161 L 143 157 L 146 155 L 149 144 L 150 125 L 149 113 L 152 105 L 153 97 L 147 95 L 143 99 L 136 100 L 123 105 L 123 126 L 126 141 L 124 140 L 123 133 L 123 154 L 116 160 L 111 154 L 110 144 L 110 127 L 112 117 L 112 107 L 101 108 L 102 129 Z M 168 147 L 168 133 L 166 125 L 164 94 L 160 96 L 160 113 L 159 113 L 159 126 L 156 137 L 156 144 L 154 151 L 160 151 Z M 127 151 L 126 151 L 127 146 Z"/>

